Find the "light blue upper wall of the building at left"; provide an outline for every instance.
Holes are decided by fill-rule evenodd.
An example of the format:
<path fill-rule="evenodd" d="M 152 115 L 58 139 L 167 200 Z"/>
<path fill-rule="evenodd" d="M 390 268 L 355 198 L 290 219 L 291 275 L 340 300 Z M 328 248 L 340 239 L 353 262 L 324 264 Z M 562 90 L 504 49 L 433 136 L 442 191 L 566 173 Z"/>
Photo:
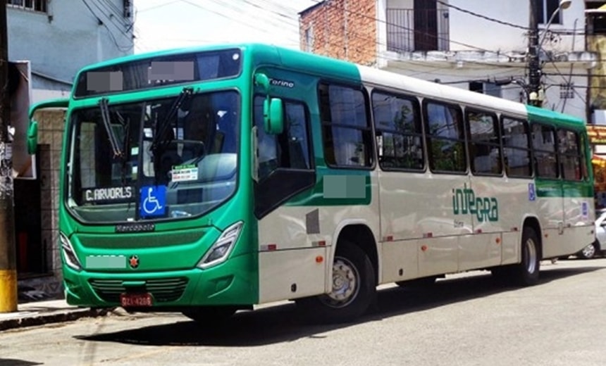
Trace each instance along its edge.
<path fill-rule="evenodd" d="M 7 6 L 8 58 L 31 61 L 32 88 L 65 89 L 53 79 L 72 82 L 82 66 L 133 53 L 123 0 L 86 4 L 91 10 L 83 1 L 52 0 L 47 13 Z"/>

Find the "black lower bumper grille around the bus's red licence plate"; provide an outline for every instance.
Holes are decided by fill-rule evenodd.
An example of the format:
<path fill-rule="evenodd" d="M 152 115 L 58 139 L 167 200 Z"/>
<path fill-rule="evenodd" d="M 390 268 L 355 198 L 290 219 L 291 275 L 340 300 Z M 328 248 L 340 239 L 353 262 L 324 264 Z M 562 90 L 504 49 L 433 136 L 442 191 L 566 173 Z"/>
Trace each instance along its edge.
<path fill-rule="evenodd" d="M 122 279 L 89 279 L 89 284 L 97 296 L 109 303 L 119 303 L 120 294 L 127 291 L 122 282 Z M 144 282 L 144 286 L 140 288 L 129 286 L 128 291 L 149 292 L 157 303 L 177 300 L 183 295 L 187 286 L 186 277 L 146 279 Z"/>

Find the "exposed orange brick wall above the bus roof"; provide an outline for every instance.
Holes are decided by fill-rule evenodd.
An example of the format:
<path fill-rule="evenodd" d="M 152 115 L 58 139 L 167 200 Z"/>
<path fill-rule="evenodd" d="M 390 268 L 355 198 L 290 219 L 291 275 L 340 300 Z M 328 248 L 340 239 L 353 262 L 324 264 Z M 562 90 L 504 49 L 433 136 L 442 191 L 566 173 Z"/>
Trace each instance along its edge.
<path fill-rule="evenodd" d="M 377 55 L 376 0 L 326 0 L 299 16 L 300 47 L 361 65 Z"/>

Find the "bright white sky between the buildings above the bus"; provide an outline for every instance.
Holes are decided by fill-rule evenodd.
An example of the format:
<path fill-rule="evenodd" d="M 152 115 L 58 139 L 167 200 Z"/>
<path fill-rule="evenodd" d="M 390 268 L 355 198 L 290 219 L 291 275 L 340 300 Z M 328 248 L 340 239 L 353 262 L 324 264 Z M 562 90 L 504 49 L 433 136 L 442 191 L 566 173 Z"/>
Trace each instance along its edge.
<path fill-rule="evenodd" d="M 299 49 L 299 11 L 320 0 L 135 0 L 135 53 L 221 42 Z"/>

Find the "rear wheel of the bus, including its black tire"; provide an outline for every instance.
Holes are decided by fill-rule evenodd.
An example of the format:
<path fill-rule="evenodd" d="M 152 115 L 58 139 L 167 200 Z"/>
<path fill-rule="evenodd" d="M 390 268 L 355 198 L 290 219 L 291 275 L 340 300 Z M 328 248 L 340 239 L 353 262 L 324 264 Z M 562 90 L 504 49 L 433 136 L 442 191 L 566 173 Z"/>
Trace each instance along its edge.
<path fill-rule="evenodd" d="M 538 235 L 532 227 L 524 227 L 522 232 L 521 257 L 521 262 L 512 268 L 514 282 L 520 286 L 537 284 L 540 270 L 540 244 Z"/>

